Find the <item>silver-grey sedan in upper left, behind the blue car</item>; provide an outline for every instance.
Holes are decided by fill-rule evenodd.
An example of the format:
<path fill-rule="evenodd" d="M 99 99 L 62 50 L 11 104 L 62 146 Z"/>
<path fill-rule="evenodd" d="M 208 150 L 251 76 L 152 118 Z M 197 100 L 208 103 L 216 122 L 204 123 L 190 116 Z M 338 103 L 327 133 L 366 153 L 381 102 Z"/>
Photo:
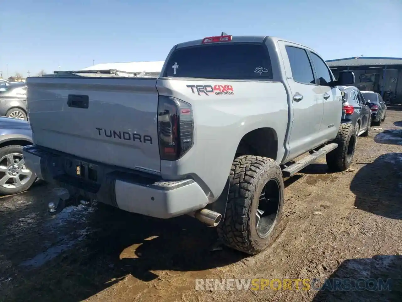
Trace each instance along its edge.
<path fill-rule="evenodd" d="M 0 83 L 0 116 L 28 120 L 27 84 Z"/>

